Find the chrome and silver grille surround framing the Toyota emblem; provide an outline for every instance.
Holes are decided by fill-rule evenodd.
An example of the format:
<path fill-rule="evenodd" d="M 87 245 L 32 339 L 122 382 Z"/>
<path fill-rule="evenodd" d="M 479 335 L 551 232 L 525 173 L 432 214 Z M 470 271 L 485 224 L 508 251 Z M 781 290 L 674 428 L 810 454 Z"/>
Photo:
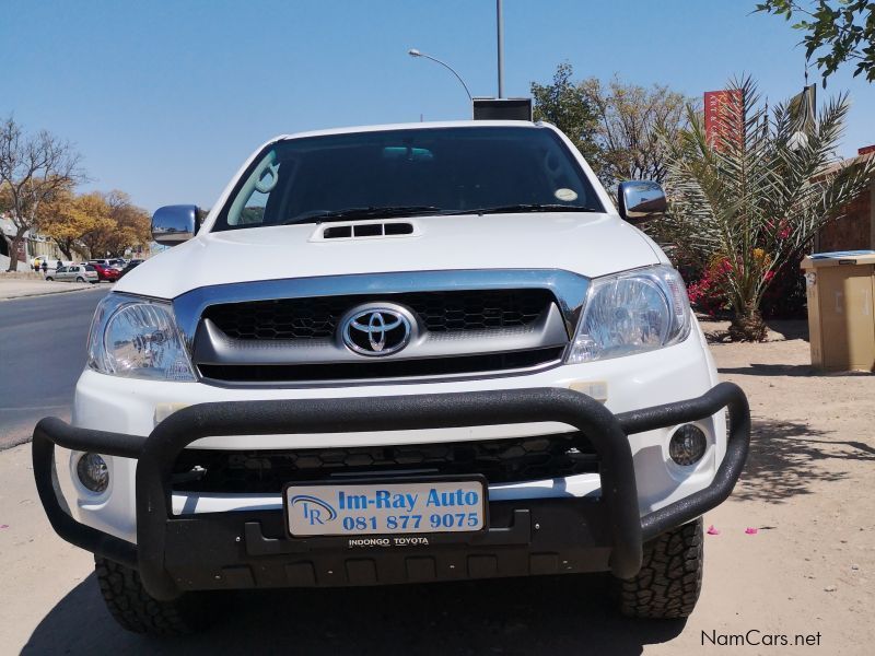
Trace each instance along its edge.
<path fill-rule="evenodd" d="M 231 386 L 258 385 L 253 372 L 246 367 L 265 366 L 265 383 L 284 386 L 336 384 L 371 379 L 376 384 L 395 383 L 399 379 L 445 380 L 458 377 L 477 377 L 490 374 L 523 373 L 523 370 L 544 368 L 560 363 L 562 353 L 574 333 L 578 318 L 588 290 L 588 279 L 562 270 L 465 270 L 465 271 L 417 271 L 409 273 L 376 273 L 361 276 L 331 276 L 318 278 L 271 280 L 261 282 L 234 283 L 200 288 L 177 296 L 174 301 L 177 324 L 192 355 L 198 377 L 208 384 Z M 357 355 L 339 340 L 337 335 L 327 339 L 307 340 L 252 340 L 229 338 L 208 318 L 206 312 L 213 305 L 246 303 L 253 301 L 276 301 L 293 298 L 319 298 L 331 296 L 370 296 L 382 302 L 393 303 L 404 293 L 433 293 L 456 291 L 491 290 L 546 290 L 553 297 L 538 319 L 530 325 L 509 328 L 491 328 L 483 331 L 462 331 L 457 333 L 429 333 L 421 323 L 413 326 L 415 332 L 408 347 L 398 354 L 383 359 L 386 365 L 374 365 L 374 371 L 360 371 L 361 355 Z M 400 298 L 398 298 L 400 300 Z M 423 328 L 419 331 L 419 328 Z M 296 343 L 295 343 L 296 342 Z M 308 343 L 301 343 L 308 342 Z M 559 352 L 553 353 L 552 349 Z M 550 351 L 548 353 L 548 351 Z M 503 354 L 537 353 L 545 360 L 508 360 Z M 471 358 L 479 360 L 471 360 Z M 492 360 L 482 361 L 492 358 Z M 494 361 L 494 358 L 503 358 Z M 392 361 L 392 365 L 389 365 Z M 419 365 L 406 366 L 404 362 Z M 434 372 L 425 372 L 421 363 L 432 362 Z M 452 363 L 454 364 L 452 364 Z M 481 370 L 469 368 L 475 362 Z M 498 371 L 494 366 L 499 365 Z M 512 364 L 513 363 L 513 364 Z M 201 365 L 205 371 L 201 371 Z M 295 368 L 296 366 L 305 368 Z M 313 366 L 337 366 L 339 378 L 334 378 L 327 370 L 313 370 Z M 349 366 L 358 367 L 347 371 Z M 382 371 L 381 371 L 382 366 Z M 230 368 L 229 368 L 230 367 Z M 243 368 L 235 368 L 243 367 Z M 311 367 L 307 370 L 306 367 Z M 345 368 L 346 367 L 346 368 Z M 468 368 L 466 368 L 468 367 Z M 206 370 L 210 370 L 208 373 Z M 276 376 L 281 370 L 282 380 Z M 478 372 L 478 373 L 475 373 Z M 221 376 L 214 377 L 219 375 Z M 246 374 L 248 378 L 236 379 Z M 341 374 L 341 372 L 346 372 Z M 395 372 L 394 374 L 392 372 Z M 415 373 L 416 372 L 416 373 Z M 243 376 L 243 374 L 241 374 Z M 310 379 L 306 376 L 313 375 Z M 305 376 L 305 377 L 301 377 Z M 284 380 L 284 383 L 283 383 Z"/>

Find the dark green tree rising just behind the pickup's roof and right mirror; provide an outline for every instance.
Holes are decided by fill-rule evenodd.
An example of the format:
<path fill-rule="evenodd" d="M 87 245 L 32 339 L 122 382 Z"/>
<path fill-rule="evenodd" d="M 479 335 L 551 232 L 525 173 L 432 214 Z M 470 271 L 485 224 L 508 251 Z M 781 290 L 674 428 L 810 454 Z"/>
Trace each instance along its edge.
<path fill-rule="evenodd" d="M 596 144 L 598 118 L 583 83 L 574 82 L 574 69 L 560 63 L 549 84 L 532 83 L 535 120 L 551 122 L 562 130 L 581 151 L 596 173 L 600 169 L 600 150 Z"/>

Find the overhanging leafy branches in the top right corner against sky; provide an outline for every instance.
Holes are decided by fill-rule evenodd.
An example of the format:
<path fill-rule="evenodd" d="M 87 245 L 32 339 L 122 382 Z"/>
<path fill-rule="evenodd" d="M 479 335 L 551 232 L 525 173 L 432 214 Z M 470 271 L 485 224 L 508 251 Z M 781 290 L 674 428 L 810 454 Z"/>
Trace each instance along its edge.
<path fill-rule="evenodd" d="M 856 65 L 854 77 L 864 73 L 875 82 L 875 2 L 872 0 L 766 0 L 756 11 L 802 19 L 793 25 L 805 32 L 802 43 L 808 61 L 817 54 L 817 68 L 822 71 L 824 86 L 827 78 L 839 66 L 850 61 Z"/>

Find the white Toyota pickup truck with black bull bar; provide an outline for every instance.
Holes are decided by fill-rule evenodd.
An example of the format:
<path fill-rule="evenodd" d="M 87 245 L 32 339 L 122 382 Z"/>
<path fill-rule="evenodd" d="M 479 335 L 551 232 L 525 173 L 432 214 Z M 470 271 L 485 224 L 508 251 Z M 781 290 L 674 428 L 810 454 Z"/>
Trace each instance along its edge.
<path fill-rule="evenodd" d="M 175 247 L 101 302 L 71 422 L 34 431 L 113 616 L 588 572 L 627 614 L 689 614 L 749 410 L 633 225 L 662 189 L 618 201 L 555 127 L 462 121 L 281 137 L 202 220 L 158 210 Z"/>

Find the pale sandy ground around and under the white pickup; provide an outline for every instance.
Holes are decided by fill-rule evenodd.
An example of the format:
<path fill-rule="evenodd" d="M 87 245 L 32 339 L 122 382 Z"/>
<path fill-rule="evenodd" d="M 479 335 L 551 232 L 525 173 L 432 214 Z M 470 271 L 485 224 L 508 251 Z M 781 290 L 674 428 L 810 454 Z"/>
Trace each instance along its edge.
<path fill-rule="evenodd" d="M 625 620 L 603 577 L 565 576 L 242 595 L 198 637 L 126 634 L 89 554 L 51 532 L 22 445 L 0 453 L 0 652 L 875 653 L 875 376 L 813 375 L 803 339 L 712 351 L 747 391 L 755 436 L 733 497 L 705 517 L 720 535 L 705 536 L 702 596 L 686 622 Z M 724 646 L 737 634 L 762 644 Z M 790 645 L 767 644 L 772 634 Z M 794 646 L 796 634 L 818 644 Z"/>

